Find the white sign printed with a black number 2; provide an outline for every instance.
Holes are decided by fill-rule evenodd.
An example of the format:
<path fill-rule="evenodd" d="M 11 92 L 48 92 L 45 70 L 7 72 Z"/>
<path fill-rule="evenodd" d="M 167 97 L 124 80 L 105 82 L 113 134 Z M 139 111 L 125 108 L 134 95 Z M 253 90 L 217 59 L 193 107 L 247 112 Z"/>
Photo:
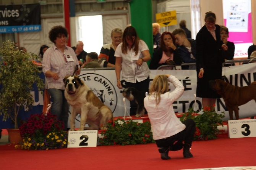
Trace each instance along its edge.
<path fill-rule="evenodd" d="M 69 131 L 68 148 L 96 147 L 97 138 L 97 130 Z"/>

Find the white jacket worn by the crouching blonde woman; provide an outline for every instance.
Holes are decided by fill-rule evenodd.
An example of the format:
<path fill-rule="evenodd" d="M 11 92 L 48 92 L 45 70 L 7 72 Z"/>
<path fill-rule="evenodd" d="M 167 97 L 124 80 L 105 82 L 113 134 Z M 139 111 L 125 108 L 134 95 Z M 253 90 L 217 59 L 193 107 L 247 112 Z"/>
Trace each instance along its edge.
<path fill-rule="evenodd" d="M 185 125 L 177 118 L 172 106 L 172 103 L 182 95 L 184 87 L 172 75 L 168 77 L 168 81 L 173 83 L 175 90 L 162 94 L 157 106 L 154 93 L 144 98 L 144 106 L 152 126 L 154 140 L 173 136 L 185 129 Z"/>

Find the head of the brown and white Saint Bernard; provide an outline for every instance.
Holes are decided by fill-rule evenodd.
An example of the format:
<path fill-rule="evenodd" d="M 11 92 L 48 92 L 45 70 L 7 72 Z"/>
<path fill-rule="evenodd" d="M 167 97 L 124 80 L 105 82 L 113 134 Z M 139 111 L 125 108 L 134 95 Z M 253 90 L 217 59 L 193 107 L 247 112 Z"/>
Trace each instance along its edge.
<path fill-rule="evenodd" d="M 81 79 L 76 75 L 66 75 L 63 79 L 65 90 L 69 95 L 75 95 L 83 84 Z"/>

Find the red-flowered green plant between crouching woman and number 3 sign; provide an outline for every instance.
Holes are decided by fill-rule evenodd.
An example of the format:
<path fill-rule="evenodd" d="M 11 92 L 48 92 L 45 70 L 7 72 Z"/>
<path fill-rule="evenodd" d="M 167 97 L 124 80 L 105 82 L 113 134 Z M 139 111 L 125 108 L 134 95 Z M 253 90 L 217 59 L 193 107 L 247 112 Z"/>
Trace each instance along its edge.
<path fill-rule="evenodd" d="M 215 105 L 213 106 L 215 107 Z M 184 113 L 180 118 L 183 122 L 186 119 L 193 119 L 196 123 L 196 132 L 194 133 L 194 140 L 212 140 L 216 139 L 220 130 L 217 128 L 219 125 L 223 126 L 222 118 L 225 117 L 223 114 L 217 114 L 217 112 L 212 111 L 211 107 L 204 107 L 203 114 L 194 115 L 196 111 L 192 108 L 188 109 L 187 113 Z"/>

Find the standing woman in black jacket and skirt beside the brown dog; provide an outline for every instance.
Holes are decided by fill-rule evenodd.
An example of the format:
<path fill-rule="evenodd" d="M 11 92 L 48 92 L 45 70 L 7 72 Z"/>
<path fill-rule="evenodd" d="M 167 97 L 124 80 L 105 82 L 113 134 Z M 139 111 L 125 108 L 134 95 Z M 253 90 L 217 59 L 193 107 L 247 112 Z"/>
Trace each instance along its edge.
<path fill-rule="evenodd" d="M 203 107 L 214 109 L 216 98 L 221 96 L 209 87 L 209 80 L 221 79 L 224 63 L 221 50 L 228 47 L 220 40 L 220 26 L 215 24 L 215 14 L 207 12 L 204 21 L 205 25 L 196 35 L 196 96 L 202 98 Z"/>

